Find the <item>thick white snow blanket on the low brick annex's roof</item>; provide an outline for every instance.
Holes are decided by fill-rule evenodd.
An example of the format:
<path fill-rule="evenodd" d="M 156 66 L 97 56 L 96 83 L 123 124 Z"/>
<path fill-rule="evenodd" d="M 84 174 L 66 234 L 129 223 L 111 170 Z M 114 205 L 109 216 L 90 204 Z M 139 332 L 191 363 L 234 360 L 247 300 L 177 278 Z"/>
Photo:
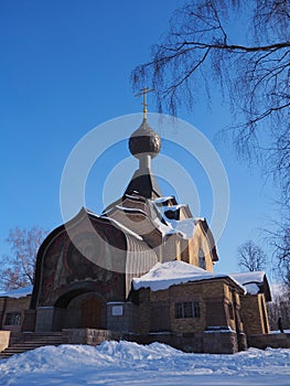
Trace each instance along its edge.
<path fill-rule="evenodd" d="M 216 278 L 227 278 L 227 275 L 215 275 L 184 261 L 167 261 L 155 264 L 149 272 L 140 278 L 133 278 L 136 290 L 150 288 L 151 291 L 168 289 L 174 285 L 190 281 L 201 281 Z"/>

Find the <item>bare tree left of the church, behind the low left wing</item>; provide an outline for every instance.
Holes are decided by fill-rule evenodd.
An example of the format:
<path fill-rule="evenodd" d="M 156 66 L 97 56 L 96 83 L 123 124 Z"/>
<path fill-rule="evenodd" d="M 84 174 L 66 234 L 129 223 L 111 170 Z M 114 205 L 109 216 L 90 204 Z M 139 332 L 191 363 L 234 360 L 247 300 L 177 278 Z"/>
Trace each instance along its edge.
<path fill-rule="evenodd" d="M 2 257 L 0 287 L 10 290 L 33 285 L 37 249 L 46 234 L 46 230 L 39 227 L 17 227 L 9 232 L 6 242 L 10 245 L 12 255 Z"/>

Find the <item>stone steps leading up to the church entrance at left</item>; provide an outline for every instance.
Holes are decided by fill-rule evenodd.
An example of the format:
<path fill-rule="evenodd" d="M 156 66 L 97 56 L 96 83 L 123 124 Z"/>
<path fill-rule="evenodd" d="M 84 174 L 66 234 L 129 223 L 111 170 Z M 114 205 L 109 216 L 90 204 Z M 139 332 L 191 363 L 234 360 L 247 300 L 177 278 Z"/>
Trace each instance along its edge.
<path fill-rule="evenodd" d="M 46 345 L 63 344 L 62 332 L 23 332 L 21 340 L 0 352 L 0 360 Z"/>

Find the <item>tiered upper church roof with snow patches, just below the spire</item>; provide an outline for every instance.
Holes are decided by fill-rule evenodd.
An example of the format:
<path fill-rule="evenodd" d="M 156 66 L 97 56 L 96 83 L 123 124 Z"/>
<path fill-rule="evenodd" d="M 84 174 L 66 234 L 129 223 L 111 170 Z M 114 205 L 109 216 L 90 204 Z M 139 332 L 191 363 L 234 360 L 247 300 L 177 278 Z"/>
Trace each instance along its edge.
<path fill-rule="evenodd" d="M 193 217 L 189 205 L 178 204 L 174 196 L 150 200 L 137 192 L 131 195 L 125 194 L 122 199 L 109 205 L 103 216 L 115 218 L 127 228 L 142 235 L 151 246 L 160 245 L 173 235 L 191 239 L 196 227 L 201 227 L 207 238 L 212 260 L 218 261 L 214 237 L 206 219 Z"/>

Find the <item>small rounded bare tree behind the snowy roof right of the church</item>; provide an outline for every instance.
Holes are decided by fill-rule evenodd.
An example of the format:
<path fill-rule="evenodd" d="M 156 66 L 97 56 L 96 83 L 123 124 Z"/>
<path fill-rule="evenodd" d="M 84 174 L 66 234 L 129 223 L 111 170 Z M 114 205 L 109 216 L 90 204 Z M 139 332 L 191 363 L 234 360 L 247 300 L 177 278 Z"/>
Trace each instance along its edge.
<path fill-rule="evenodd" d="M 262 249 L 251 240 L 244 243 L 237 249 L 238 265 L 246 271 L 259 271 L 266 267 L 267 257 Z"/>

